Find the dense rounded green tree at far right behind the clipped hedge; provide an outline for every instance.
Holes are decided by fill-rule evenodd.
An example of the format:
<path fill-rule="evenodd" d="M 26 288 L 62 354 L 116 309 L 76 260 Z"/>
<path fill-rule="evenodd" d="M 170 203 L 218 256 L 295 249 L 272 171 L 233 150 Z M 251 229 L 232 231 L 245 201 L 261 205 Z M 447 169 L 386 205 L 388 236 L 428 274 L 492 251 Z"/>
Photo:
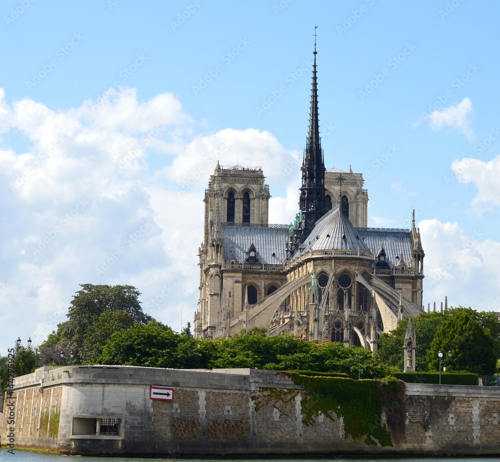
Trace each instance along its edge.
<path fill-rule="evenodd" d="M 491 335 L 489 315 L 462 306 L 446 311 L 427 352 L 429 370 L 438 370 L 438 352 L 451 359 L 446 367 L 478 374 L 493 373 L 496 367 L 495 342 Z M 442 362 L 441 362 L 442 366 Z"/>

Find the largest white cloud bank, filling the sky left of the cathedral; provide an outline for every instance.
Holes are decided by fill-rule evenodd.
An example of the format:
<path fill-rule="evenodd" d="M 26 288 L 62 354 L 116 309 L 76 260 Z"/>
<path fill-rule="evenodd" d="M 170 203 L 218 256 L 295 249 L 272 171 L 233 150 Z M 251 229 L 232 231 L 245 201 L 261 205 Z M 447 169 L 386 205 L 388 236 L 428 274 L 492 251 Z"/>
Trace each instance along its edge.
<path fill-rule="evenodd" d="M 171 94 L 106 95 L 54 111 L 29 98 L 9 106 L 0 89 L 0 132 L 15 130 L 27 145 L 17 152 L 0 139 L 0 319 L 14 332 L 0 348 L 17 335 L 41 343 L 86 282 L 135 285 L 158 320 L 179 328 L 182 309 L 192 321 L 203 191 L 217 160 L 238 157 L 261 166 L 273 186 L 293 184 L 281 200 L 294 206 L 271 211 L 271 220 L 296 211 L 298 152 L 271 133 L 199 134 Z"/>

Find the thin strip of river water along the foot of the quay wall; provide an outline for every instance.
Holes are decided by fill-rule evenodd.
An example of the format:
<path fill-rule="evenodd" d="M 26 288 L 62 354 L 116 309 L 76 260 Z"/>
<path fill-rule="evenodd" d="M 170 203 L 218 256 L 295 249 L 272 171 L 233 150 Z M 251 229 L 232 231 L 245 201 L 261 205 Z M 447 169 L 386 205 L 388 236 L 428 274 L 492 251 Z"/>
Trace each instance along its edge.
<path fill-rule="evenodd" d="M 20 451 L 14 450 L 14 454 L 7 453 L 6 449 L 1 448 L 0 450 L 0 462 L 70 462 L 71 459 L 74 462 L 161 462 L 168 461 L 172 462 L 172 457 L 170 458 L 140 458 L 140 457 L 83 457 L 79 455 L 57 455 L 57 454 L 46 454 L 41 452 L 31 452 L 31 451 Z M 334 457 L 324 457 L 318 459 L 176 459 L 178 462 L 223 462 L 225 460 L 231 460 L 231 462 L 437 462 L 438 460 L 446 460 L 446 462 L 479 462 L 482 460 L 493 461 L 499 460 L 497 457 L 421 457 L 421 458 L 356 458 L 356 459 L 344 459 L 344 458 L 334 458 Z"/>

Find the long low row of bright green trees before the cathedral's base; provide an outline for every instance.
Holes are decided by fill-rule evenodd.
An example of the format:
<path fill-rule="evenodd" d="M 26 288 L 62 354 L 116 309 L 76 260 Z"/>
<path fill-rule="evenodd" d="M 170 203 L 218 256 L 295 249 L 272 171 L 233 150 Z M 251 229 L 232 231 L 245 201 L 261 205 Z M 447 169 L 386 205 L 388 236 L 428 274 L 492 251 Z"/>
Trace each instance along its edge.
<path fill-rule="evenodd" d="M 195 339 L 152 321 L 135 323 L 111 335 L 97 360 L 174 368 L 263 368 L 347 373 L 352 378 L 384 377 L 388 367 L 364 348 L 341 343 L 315 343 L 290 334 L 266 336 L 265 328 L 242 331 L 232 338 Z"/>

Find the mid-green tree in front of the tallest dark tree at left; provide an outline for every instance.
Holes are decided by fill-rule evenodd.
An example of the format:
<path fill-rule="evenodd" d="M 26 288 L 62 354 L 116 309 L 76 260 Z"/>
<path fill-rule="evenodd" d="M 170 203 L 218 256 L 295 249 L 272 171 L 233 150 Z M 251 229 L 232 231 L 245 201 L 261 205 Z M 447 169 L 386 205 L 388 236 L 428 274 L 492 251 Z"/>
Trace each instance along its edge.
<path fill-rule="evenodd" d="M 132 314 L 121 309 L 104 311 L 96 316 L 83 336 L 83 344 L 79 350 L 81 361 L 85 364 L 95 363 L 112 333 L 127 329 L 134 323 Z"/>

